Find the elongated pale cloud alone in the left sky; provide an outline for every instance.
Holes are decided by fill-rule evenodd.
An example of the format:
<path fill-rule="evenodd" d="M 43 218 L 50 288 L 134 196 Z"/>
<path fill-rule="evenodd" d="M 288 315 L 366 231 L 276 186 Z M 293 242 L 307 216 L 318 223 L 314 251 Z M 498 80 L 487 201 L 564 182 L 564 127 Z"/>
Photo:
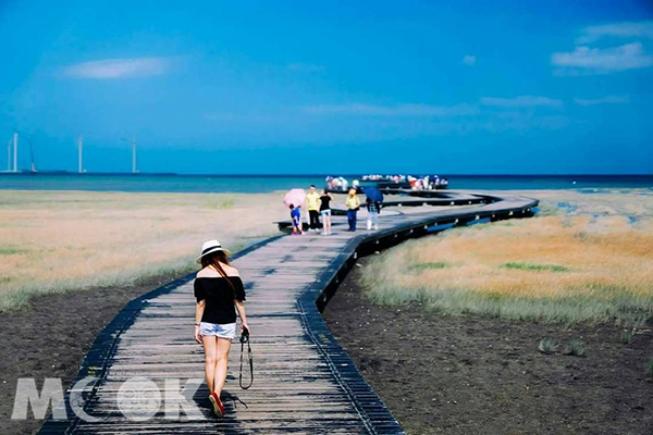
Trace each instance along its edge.
<path fill-rule="evenodd" d="M 79 78 L 124 78 L 161 75 L 171 66 L 170 58 L 104 59 L 67 66 L 63 73 Z"/>

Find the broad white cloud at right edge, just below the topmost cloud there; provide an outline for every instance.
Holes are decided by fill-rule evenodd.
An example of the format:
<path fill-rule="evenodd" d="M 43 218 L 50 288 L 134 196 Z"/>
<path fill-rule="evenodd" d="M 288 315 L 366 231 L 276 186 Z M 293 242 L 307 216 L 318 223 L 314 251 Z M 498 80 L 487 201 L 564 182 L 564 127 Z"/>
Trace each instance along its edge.
<path fill-rule="evenodd" d="M 616 48 L 576 47 L 571 52 L 553 53 L 551 62 L 563 67 L 556 74 L 606 74 L 653 66 L 653 55 L 640 42 Z"/>

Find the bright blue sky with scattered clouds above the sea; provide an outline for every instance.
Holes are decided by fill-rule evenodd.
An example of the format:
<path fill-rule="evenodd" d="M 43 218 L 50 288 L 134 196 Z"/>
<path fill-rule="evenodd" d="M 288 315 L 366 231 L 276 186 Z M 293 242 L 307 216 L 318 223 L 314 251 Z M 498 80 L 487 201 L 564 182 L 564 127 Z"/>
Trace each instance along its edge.
<path fill-rule="evenodd" d="M 653 173 L 648 1 L 2 1 L 0 53 L 41 170 Z"/>

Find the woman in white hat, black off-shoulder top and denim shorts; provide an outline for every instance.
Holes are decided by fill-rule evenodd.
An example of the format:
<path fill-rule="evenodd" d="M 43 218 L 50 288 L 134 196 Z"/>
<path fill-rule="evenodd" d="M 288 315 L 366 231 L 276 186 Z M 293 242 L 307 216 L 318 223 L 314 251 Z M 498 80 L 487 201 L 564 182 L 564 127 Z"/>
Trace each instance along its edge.
<path fill-rule="evenodd" d="M 195 340 L 204 346 L 209 400 L 218 417 L 224 415 L 220 394 L 226 380 L 231 340 L 236 336 L 236 311 L 241 332 L 249 331 L 243 304 L 245 287 L 238 271 L 229 263 L 230 254 L 218 240 L 205 243 L 197 258 L 201 270 L 195 279 Z"/>

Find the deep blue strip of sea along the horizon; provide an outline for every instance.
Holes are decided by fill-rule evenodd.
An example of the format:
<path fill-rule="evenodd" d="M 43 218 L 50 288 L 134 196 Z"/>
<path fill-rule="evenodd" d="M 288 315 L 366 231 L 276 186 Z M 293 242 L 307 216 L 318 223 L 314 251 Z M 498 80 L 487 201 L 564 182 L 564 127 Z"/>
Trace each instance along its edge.
<path fill-rule="evenodd" d="M 1 190 L 89 190 L 140 192 L 270 192 L 311 184 L 321 188 L 328 174 L 156 174 L 156 173 L 0 173 Z M 360 174 L 331 174 L 349 182 Z M 417 175 L 417 174 L 416 174 Z M 449 190 L 538 190 L 653 188 L 651 175 L 613 174 L 443 174 Z M 365 183 L 364 183 L 365 184 Z"/>

